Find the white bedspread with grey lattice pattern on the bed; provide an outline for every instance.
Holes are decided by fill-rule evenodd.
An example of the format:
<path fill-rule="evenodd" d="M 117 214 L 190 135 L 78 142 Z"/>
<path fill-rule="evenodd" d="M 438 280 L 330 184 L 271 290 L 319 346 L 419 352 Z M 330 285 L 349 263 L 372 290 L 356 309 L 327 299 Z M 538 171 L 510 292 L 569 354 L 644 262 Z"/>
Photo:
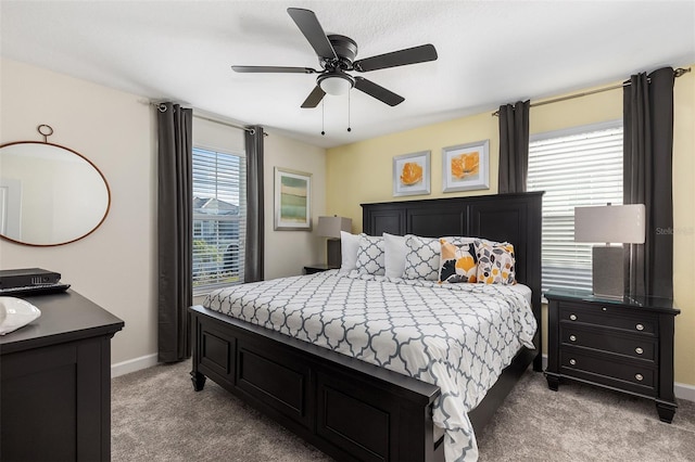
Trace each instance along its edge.
<path fill-rule="evenodd" d="M 337 270 L 211 293 L 203 306 L 438 385 L 446 461 L 475 461 L 473 409 L 521 345 L 528 299 L 505 285 L 443 284 Z"/>

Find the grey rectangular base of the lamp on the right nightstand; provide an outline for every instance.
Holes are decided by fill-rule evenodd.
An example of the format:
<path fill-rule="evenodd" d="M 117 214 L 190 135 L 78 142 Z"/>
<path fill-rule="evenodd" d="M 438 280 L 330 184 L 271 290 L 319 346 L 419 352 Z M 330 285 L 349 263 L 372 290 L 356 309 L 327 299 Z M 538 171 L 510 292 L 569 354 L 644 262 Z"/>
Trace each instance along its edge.
<path fill-rule="evenodd" d="M 622 299 L 626 294 L 623 247 L 592 248 L 592 288 L 595 296 Z"/>

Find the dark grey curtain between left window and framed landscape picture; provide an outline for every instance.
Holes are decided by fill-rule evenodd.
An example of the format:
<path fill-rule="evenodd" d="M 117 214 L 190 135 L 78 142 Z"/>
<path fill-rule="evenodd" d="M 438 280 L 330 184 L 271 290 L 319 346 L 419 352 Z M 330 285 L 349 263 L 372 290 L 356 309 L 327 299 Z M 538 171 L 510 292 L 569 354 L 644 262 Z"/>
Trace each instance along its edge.
<path fill-rule="evenodd" d="M 263 127 L 247 127 L 247 252 L 244 282 L 263 281 Z"/>

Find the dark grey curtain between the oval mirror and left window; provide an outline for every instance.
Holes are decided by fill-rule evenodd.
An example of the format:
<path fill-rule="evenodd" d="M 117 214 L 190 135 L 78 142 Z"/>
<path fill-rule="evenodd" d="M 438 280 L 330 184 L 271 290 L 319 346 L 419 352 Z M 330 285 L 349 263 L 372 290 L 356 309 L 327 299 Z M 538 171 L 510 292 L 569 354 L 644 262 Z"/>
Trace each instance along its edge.
<path fill-rule="evenodd" d="M 192 110 L 162 103 L 157 111 L 159 360 L 191 356 Z"/>

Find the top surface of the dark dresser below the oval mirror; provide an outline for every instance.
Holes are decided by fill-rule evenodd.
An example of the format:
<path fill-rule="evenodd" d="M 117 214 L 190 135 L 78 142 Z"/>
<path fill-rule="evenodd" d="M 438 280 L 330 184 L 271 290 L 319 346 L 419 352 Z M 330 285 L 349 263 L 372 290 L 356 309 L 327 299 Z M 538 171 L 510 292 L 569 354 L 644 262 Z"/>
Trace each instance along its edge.
<path fill-rule="evenodd" d="M 113 335 L 124 326 L 121 319 L 72 290 L 20 298 L 36 306 L 41 316 L 0 336 L 2 354 L 97 335 Z"/>

